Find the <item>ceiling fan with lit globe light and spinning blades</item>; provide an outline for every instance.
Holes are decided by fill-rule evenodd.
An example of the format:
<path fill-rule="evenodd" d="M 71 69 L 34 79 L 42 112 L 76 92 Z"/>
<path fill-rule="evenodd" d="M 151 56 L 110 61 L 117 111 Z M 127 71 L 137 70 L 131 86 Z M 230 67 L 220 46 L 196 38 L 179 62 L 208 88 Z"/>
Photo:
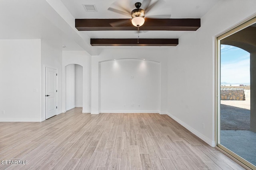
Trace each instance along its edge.
<path fill-rule="evenodd" d="M 136 9 L 132 10 L 132 12 L 130 12 L 130 10 L 120 6 L 120 5 L 116 5 L 117 7 L 121 8 L 122 10 L 117 10 L 116 8 L 108 8 L 108 10 L 112 11 L 112 12 L 116 12 L 118 14 L 122 14 L 122 15 L 126 15 L 129 17 L 132 17 L 132 19 L 130 20 L 132 22 L 132 25 L 134 25 L 135 27 L 140 27 L 144 24 L 145 22 L 145 16 L 146 16 L 146 12 L 149 12 L 154 6 L 156 6 L 157 4 L 160 3 L 164 3 L 164 0 L 157 0 L 156 2 L 150 4 L 151 0 L 144 0 L 142 3 L 145 4 L 144 5 L 144 9 L 140 8 L 142 3 L 141 2 L 136 2 L 135 3 L 135 7 Z M 146 18 L 170 18 L 171 15 L 156 15 L 156 16 L 146 16 Z M 113 27 L 117 27 L 117 26 L 121 26 L 121 25 L 125 25 L 127 24 L 127 22 L 130 22 L 129 20 L 127 21 L 117 21 L 117 22 L 113 22 L 110 23 L 110 25 L 112 25 Z"/>

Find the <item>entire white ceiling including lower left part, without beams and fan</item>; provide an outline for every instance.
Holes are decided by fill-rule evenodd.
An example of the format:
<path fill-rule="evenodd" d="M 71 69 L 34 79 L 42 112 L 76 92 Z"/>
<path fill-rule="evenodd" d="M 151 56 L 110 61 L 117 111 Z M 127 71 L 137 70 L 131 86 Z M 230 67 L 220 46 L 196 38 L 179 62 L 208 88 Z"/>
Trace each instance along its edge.
<path fill-rule="evenodd" d="M 64 50 L 86 50 L 92 54 L 91 51 L 95 49 L 112 47 L 91 47 L 90 38 L 137 38 L 138 34 L 136 31 L 77 31 L 74 19 L 130 18 L 108 11 L 108 8 L 116 8 L 118 4 L 131 11 L 135 8 L 135 2 L 142 1 L 1 0 L 0 39 L 51 39 L 60 46 L 65 45 Z M 152 0 L 151 3 L 155 1 Z M 146 13 L 146 16 L 171 14 L 171 18 L 202 18 L 219 1 L 221 0 L 165 0 Z M 86 12 L 83 4 L 96 5 L 98 12 Z M 140 38 L 179 38 L 189 32 L 147 31 L 140 32 L 139 35 Z"/>

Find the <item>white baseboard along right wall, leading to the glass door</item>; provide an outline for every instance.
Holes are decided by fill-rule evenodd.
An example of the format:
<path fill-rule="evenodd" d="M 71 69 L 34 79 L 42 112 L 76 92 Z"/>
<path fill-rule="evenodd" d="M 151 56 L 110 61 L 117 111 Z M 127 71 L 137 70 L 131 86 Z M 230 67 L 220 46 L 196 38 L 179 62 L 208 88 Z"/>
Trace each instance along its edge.
<path fill-rule="evenodd" d="M 200 139 L 202 139 L 203 141 L 205 141 L 208 145 L 212 146 L 212 147 L 216 147 L 216 143 L 215 141 L 211 141 L 210 139 L 208 139 L 207 137 L 205 137 L 204 135 L 202 135 L 201 133 L 199 133 L 198 131 L 196 131 L 195 129 L 193 129 L 192 127 L 188 126 L 186 123 L 184 123 L 183 121 L 181 121 L 180 119 L 178 119 L 177 117 L 175 117 L 174 115 L 172 115 L 171 113 L 167 113 L 168 116 L 170 116 L 172 119 L 174 119 L 175 121 L 177 121 L 178 123 L 180 123 L 182 126 L 184 126 L 186 129 L 188 129 L 190 132 L 192 132 L 194 135 L 196 135 L 197 137 L 199 137 Z"/>

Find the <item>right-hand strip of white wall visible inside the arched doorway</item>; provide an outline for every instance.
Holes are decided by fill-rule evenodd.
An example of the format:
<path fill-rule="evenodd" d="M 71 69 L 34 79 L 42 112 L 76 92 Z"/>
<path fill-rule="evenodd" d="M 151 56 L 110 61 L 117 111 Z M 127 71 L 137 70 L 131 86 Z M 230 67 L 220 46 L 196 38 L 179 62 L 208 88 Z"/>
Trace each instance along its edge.
<path fill-rule="evenodd" d="M 83 107 L 83 67 L 75 64 L 75 106 Z"/>

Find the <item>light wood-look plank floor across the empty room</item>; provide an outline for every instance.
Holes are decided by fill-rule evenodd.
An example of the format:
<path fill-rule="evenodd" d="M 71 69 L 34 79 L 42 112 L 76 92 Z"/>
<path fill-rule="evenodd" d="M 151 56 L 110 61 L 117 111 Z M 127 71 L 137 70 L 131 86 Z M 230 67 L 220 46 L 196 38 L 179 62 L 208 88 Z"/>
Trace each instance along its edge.
<path fill-rule="evenodd" d="M 43 122 L 0 122 L 0 164 L 19 170 L 238 170 L 168 115 L 74 108 Z"/>

